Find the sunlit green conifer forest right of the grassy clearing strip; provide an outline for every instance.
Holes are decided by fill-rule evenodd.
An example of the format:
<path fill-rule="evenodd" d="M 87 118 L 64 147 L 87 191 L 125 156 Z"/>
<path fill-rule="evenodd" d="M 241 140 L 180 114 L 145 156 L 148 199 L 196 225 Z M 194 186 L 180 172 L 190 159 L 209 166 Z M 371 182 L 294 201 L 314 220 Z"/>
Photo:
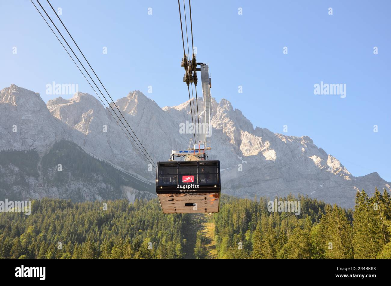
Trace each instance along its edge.
<path fill-rule="evenodd" d="M 294 197 L 279 200 L 295 200 Z M 386 190 L 357 192 L 355 210 L 299 197 L 301 214 L 272 212 L 267 201 L 225 198 L 215 215 L 220 258 L 391 258 Z M 242 243 L 239 249 L 238 243 Z"/>

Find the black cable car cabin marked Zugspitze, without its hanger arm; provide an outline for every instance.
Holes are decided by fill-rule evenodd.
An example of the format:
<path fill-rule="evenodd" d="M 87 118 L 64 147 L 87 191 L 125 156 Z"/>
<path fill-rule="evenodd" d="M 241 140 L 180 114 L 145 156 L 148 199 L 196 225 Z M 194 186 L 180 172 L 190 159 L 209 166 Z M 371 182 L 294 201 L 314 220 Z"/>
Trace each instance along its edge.
<path fill-rule="evenodd" d="M 163 213 L 217 213 L 220 161 L 158 162 L 156 193 Z"/>

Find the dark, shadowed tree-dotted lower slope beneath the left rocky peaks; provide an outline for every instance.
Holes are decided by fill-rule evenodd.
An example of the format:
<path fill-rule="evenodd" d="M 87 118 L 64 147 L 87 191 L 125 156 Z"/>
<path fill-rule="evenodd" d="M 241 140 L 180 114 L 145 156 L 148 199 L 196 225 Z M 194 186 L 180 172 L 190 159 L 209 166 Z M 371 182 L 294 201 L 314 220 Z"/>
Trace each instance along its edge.
<path fill-rule="evenodd" d="M 154 185 L 146 179 L 118 170 L 70 141 L 58 141 L 45 153 L 0 151 L 0 200 L 133 201 L 155 195 Z"/>

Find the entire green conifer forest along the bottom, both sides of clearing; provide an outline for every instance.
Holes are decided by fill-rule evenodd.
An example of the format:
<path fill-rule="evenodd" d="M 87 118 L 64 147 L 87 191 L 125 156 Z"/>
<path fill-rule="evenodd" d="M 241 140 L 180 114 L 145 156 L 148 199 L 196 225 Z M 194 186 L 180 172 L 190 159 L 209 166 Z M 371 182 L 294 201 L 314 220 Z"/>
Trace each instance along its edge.
<path fill-rule="evenodd" d="M 386 191 L 358 192 L 355 210 L 279 198 L 300 200 L 300 215 L 270 213 L 268 200 L 223 195 L 221 211 L 210 216 L 163 215 L 157 199 L 34 200 L 31 215 L 0 213 L 0 257 L 391 258 Z M 205 225 L 214 225 L 212 238 Z"/>

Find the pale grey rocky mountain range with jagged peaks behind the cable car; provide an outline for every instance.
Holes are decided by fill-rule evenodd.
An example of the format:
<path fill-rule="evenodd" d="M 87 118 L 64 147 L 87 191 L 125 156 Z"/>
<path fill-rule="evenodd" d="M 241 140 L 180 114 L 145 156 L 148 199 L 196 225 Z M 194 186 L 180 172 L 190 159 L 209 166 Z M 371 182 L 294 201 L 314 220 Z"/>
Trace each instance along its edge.
<path fill-rule="evenodd" d="M 169 159 L 171 150 L 188 147 L 192 130 L 183 126 L 191 127 L 189 102 L 161 108 L 140 91 L 134 91 L 116 104 L 154 163 Z M 198 107 L 203 110 L 202 98 L 198 98 Z M 45 105 L 37 93 L 11 85 L 0 92 L 0 112 L 2 150 L 34 149 L 43 156 L 54 142 L 66 139 L 142 181 L 153 183 L 155 179 L 150 163 L 115 122 L 112 115 L 117 121 L 118 118 L 111 108 L 106 109 L 89 94 L 59 97 Z M 118 116 L 122 118 L 119 113 Z M 14 125 L 17 132 L 13 132 Z M 250 198 L 300 193 L 352 207 L 357 189 L 390 189 L 390 183 L 377 173 L 354 177 L 308 136 L 254 129 L 242 112 L 225 99 L 220 103 L 213 100 L 211 125 L 209 159 L 221 161 L 224 193 Z"/>

